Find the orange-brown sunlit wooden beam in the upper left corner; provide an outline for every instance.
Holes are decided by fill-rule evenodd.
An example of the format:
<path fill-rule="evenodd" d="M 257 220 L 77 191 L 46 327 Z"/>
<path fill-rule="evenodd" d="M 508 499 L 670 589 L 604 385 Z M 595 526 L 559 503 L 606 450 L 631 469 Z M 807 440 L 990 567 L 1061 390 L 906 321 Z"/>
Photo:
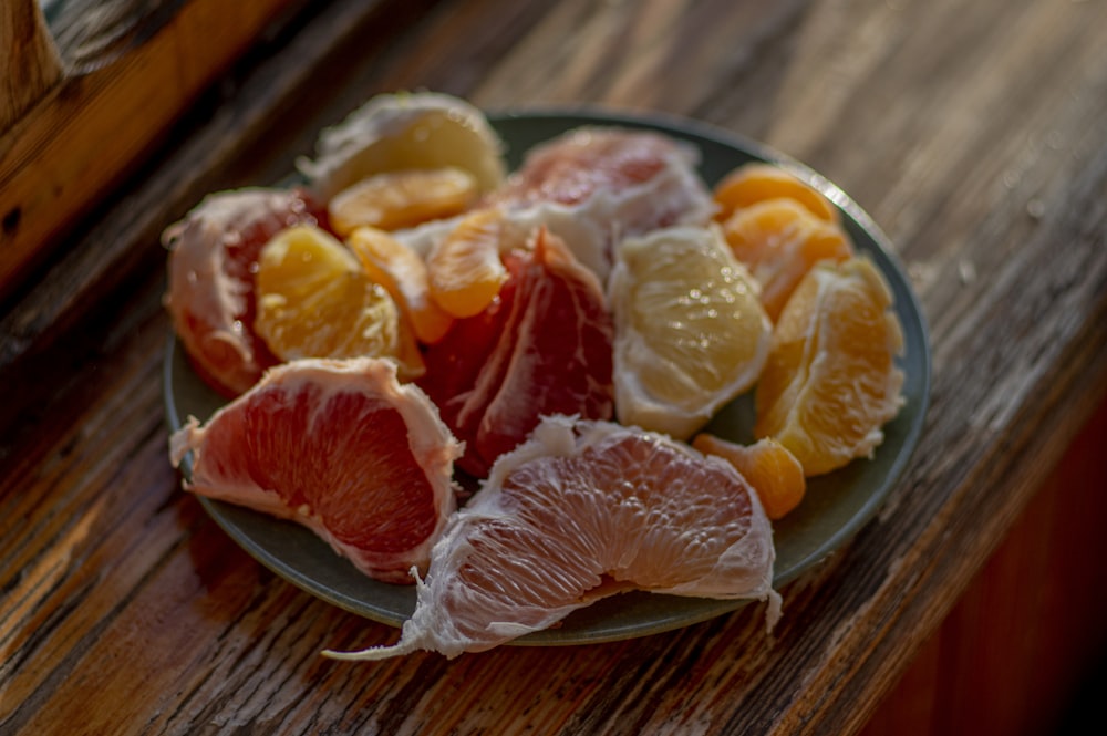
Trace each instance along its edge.
<path fill-rule="evenodd" d="M 0 126 L 0 298 L 293 1 L 189 0 L 152 38 L 66 75 Z"/>

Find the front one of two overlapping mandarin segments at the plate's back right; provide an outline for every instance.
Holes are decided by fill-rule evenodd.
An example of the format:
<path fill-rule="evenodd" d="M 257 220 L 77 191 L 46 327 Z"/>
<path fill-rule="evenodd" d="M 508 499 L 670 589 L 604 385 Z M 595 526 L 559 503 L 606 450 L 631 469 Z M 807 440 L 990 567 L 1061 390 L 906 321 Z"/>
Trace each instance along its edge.
<path fill-rule="evenodd" d="M 786 197 L 735 210 L 723 224 L 723 235 L 761 284 L 762 304 L 774 321 L 811 266 L 853 255 L 852 242 L 838 224 L 819 219 Z"/>

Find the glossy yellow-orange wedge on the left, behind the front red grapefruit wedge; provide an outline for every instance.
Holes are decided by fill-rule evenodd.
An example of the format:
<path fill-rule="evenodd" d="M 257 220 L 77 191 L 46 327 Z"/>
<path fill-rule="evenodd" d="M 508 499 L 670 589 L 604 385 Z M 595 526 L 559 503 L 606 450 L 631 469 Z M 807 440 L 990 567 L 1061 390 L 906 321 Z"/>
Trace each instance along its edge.
<path fill-rule="evenodd" d="M 404 377 L 423 373 L 414 336 L 396 303 L 328 232 L 300 226 L 261 249 L 256 278 L 258 334 L 284 361 L 389 357 Z"/>

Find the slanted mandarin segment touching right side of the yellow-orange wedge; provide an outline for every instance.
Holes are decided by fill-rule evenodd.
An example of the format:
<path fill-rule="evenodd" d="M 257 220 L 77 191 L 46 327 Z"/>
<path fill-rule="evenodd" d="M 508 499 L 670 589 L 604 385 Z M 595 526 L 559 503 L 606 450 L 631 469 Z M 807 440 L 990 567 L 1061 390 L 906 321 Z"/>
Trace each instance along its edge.
<path fill-rule="evenodd" d="M 370 280 L 384 287 L 404 311 L 418 341 L 433 344 L 442 340 L 454 318 L 431 299 L 426 263 L 418 253 L 372 227 L 351 232 L 346 245 Z"/>

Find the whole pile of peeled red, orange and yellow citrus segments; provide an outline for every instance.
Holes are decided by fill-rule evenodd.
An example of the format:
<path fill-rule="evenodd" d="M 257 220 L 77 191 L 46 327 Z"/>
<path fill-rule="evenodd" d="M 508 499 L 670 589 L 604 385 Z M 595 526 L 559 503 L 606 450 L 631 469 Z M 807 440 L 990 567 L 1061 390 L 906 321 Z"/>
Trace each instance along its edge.
<path fill-rule="evenodd" d="M 174 328 L 234 398 L 172 437 L 186 487 L 421 581 L 401 644 L 354 656 L 487 649 L 629 588 L 774 621 L 772 520 L 901 403 L 891 293 L 835 206 L 768 164 L 711 190 L 686 144 L 618 127 L 508 174 L 432 93 L 318 148 L 302 191 L 166 232 Z M 754 444 L 702 433 L 751 391 Z"/>

